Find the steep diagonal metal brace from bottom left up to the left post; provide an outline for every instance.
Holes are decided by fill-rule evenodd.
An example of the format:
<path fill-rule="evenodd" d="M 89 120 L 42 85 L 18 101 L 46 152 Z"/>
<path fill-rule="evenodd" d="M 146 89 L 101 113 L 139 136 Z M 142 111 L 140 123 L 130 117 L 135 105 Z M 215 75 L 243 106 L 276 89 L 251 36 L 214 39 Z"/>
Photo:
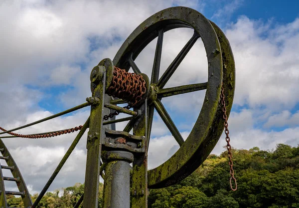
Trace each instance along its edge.
<path fill-rule="evenodd" d="M 88 127 L 89 127 L 89 118 L 87 119 L 87 121 L 83 125 L 82 129 L 80 130 L 80 132 L 76 136 L 75 140 L 73 141 L 73 143 L 71 144 L 71 146 L 69 147 L 69 149 L 67 150 L 65 155 L 63 156 L 62 160 L 60 161 L 59 165 L 57 166 L 57 168 L 53 172 L 53 174 L 50 177 L 50 179 L 48 180 L 48 182 L 46 183 L 45 187 L 42 189 L 42 191 L 40 192 L 40 194 L 36 198 L 34 204 L 32 205 L 32 208 L 35 208 L 38 205 L 41 198 L 44 196 L 44 194 L 46 193 L 46 191 L 48 190 L 48 188 L 50 187 L 50 185 L 54 181 L 54 179 L 57 176 L 57 174 L 59 173 L 60 169 L 62 168 L 62 166 L 64 165 L 64 163 L 66 162 L 66 160 L 68 159 L 70 154 L 73 152 L 73 150 L 75 149 L 76 145 L 78 144 L 78 142 L 80 141 L 81 137 L 83 136 L 84 132 L 86 131 L 86 129 Z"/>

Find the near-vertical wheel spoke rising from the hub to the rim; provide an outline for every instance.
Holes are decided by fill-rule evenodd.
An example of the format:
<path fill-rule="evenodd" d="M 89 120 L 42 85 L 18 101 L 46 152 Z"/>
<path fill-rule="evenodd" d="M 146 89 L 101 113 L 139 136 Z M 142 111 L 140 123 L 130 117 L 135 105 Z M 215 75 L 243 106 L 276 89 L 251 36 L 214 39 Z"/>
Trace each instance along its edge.
<path fill-rule="evenodd" d="M 163 31 L 163 29 L 160 29 L 158 31 L 158 39 L 157 39 L 156 49 L 155 49 L 155 53 L 154 53 L 150 83 L 157 83 L 157 81 L 159 79 L 163 35 L 164 35 L 164 31 Z"/>

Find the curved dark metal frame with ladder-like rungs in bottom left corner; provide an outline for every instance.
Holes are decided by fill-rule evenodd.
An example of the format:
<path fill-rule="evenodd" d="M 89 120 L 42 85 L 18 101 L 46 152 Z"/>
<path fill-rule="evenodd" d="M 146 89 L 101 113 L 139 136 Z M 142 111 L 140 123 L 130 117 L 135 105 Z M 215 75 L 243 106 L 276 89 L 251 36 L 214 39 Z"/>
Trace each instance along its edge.
<path fill-rule="evenodd" d="M 2 175 L 2 170 L 0 171 L 1 172 L 1 181 L 3 182 L 3 180 L 6 180 L 6 181 L 14 181 L 16 182 L 16 185 L 17 185 L 17 188 L 19 190 L 19 192 L 11 192 L 11 191 L 6 191 L 4 189 L 4 184 L 3 184 L 3 192 L 1 192 L 1 206 L 4 206 L 6 204 L 2 204 L 2 200 L 3 200 L 3 197 L 5 199 L 5 196 L 4 195 L 19 195 L 22 197 L 22 200 L 23 200 L 23 203 L 24 203 L 24 206 L 27 208 L 27 207 L 30 207 L 32 206 L 32 201 L 31 201 L 31 197 L 30 197 L 30 194 L 27 190 L 27 187 L 26 187 L 26 184 L 24 182 L 24 179 L 16 165 L 16 163 L 14 162 L 13 158 L 11 157 L 10 153 L 8 152 L 6 146 L 4 145 L 3 141 L 0 139 L 0 151 L 1 151 L 1 154 L 3 155 L 3 157 L 5 157 L 5 161 L 8 165 L 10 171 L 11 171 L 11 174 L 13 176 L 13 178 L 11 177 L 4 177 Z M 1 166 L 1 169 L 2 169 L 2 166 Z M 5 193 L 5 194 L 4 194 Z M 3 195 L 3 196 L 2 196 Z M 6 207 L 5 207 L 6 208 Z"/>

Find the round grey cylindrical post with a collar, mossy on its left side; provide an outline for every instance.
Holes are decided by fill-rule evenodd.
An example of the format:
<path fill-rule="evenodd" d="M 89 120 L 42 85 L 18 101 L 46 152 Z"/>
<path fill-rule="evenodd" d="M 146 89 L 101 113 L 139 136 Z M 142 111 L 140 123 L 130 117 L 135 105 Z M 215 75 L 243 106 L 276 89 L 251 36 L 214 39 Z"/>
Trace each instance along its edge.
<path fill-rule="evenodd" d="M 108 151 L 102 159 L 107 164 L 103 208 L 130 208 L 130 163 L 134 155 L 126 151 Z"/>

